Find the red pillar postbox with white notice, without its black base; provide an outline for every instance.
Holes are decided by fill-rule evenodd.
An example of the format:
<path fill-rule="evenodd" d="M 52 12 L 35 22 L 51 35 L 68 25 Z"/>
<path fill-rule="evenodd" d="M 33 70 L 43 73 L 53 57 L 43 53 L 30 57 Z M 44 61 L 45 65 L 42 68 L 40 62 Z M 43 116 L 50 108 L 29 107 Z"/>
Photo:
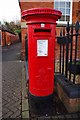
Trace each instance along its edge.
<path fill-rule="evenodd" d="M 33 101 L 50 98 L 54 92 L 55 30 L 60 17 L 60 11 L 50 8 L 22 12 L 28 25 L 29 93 Z"/>

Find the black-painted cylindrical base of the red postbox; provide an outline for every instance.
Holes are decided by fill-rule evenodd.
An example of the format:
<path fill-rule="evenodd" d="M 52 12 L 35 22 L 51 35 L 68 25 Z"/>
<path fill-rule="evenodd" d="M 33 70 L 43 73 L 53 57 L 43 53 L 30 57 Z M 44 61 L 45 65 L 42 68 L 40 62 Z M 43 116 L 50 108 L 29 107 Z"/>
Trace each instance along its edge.
<path fill-rule="evenodd" d="M 45 97 L 33 96 L 29 93 L 30 112 L 36 115 L 53 114 L 53 94 Z"/>

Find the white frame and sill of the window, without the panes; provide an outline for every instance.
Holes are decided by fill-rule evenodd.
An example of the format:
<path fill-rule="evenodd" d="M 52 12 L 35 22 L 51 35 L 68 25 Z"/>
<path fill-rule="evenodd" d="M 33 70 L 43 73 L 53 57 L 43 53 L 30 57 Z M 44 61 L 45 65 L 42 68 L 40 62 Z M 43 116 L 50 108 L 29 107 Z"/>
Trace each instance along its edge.
<path fill-rule="evenodd" d="M 64 2 L 64 1 L 70 2 L 70 21 L 69 21 L 69 24 L 72 24 L 72 3 L 73 3 L 73 0 L 54 0 L 54 9 L 55 9 L 55 2 Z M 67 24 L 67 21 L 57 21 L 57 24 Z"/>

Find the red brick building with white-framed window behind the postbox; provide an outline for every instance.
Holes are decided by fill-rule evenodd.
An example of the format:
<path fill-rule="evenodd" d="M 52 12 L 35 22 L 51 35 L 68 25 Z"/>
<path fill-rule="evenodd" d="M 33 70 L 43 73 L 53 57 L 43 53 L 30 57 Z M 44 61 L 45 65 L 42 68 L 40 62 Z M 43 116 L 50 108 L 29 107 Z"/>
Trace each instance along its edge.
<path fill-rule="evenodd" d="M 31 2 L 33 1 L 33 2 Z M 36 1 L 36 2 L 35 2 Z M 67 21 L 70 24 L 75 23 L 77 20 L 80 22 L 80 0 L 19 0 L 21 12 L 30 8 L 36 7 L 47 7 L 54 8 L 62 11 L 62 17 L 57 22 L 56 33 L 59 35 L 60 27 L 65 26 Z M 26 21 L 21 19 L 21 30 L 22 30 L 22 59 L 25 58 L 25 37 L 27 35 Z M 56 44 L 57 45 L 57 44 Z M 58 46 L 56 46 L 56 49 Z"/>

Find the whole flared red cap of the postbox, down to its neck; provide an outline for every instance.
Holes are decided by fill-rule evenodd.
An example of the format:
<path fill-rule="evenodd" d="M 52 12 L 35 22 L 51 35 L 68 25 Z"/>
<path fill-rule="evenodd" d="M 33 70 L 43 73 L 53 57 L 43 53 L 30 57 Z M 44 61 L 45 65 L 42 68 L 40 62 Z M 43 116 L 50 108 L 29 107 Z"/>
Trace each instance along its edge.
<path fill-rule="evenodd" d="M 62 13 L 52 8 L 32 8 L 22 12 L 22 18 L 27 24 L 32 23 L 54 23 L 61 17 Z"/>

